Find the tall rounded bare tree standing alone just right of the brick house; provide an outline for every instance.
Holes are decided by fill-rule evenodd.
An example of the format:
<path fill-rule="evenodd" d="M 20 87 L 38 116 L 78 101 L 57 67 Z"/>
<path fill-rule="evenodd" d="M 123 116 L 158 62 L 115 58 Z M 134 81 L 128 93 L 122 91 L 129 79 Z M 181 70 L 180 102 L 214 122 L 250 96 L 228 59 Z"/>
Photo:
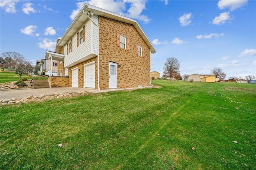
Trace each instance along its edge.
<path fill-rule="evenodd" d="M 169 57 L 164 63 L 164 77 L 175 78 L 180 76 L 180 63 L 175 57 Z"/>

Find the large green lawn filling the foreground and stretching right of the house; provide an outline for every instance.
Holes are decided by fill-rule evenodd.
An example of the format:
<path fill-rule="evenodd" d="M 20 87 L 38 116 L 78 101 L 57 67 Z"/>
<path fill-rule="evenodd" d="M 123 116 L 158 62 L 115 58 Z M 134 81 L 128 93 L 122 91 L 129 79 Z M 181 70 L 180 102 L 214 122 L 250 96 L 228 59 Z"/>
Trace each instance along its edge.
<path fill-rule="evenodd" d="M 256 85 L 152 83 L 1 106 L 1 169 L 256 169 Z"/>

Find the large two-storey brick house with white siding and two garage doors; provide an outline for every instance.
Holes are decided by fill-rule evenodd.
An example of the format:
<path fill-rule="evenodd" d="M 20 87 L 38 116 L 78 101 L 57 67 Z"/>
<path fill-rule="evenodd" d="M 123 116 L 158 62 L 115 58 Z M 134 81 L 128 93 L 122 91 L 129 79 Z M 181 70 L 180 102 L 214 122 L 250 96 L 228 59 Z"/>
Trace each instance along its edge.
<path fill-rule="evenodd" d="M 100 90 L 150 86 L 155 52 L 136 20 L 85 4 L 45 58 L 57 60 L 62 76 L 68 76 L 50 77 L 54 86 L 65 81 Z"/>

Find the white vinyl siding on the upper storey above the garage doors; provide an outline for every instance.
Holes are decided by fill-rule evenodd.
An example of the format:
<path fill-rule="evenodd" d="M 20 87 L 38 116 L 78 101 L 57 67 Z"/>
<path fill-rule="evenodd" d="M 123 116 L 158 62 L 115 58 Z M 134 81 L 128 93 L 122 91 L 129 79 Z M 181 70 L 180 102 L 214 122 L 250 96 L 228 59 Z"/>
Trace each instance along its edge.
<path fill-rule="evenodd" d="M 98 24 L 98 16 L 93 16 L 92 18 L 96 24 Z M 72 67 L 78 63 L 86 61 L 92 57 L 98 55 L 98 28 L 91 20 L 86 20 L 86 22 L 77 30 L 81 31 L 85 25 L 85 42 L 77 46 L 77 41 L 73 41 L 72 53 L 68 53 L 64 57 L 64 67 Z M 73 40 L 77 38 L 77 32 L 72 37 Z M 79 41 L 78 41 L 79 42 Z M 67 54 L 67 47 L 64 46 L 64 54 Z"/>

